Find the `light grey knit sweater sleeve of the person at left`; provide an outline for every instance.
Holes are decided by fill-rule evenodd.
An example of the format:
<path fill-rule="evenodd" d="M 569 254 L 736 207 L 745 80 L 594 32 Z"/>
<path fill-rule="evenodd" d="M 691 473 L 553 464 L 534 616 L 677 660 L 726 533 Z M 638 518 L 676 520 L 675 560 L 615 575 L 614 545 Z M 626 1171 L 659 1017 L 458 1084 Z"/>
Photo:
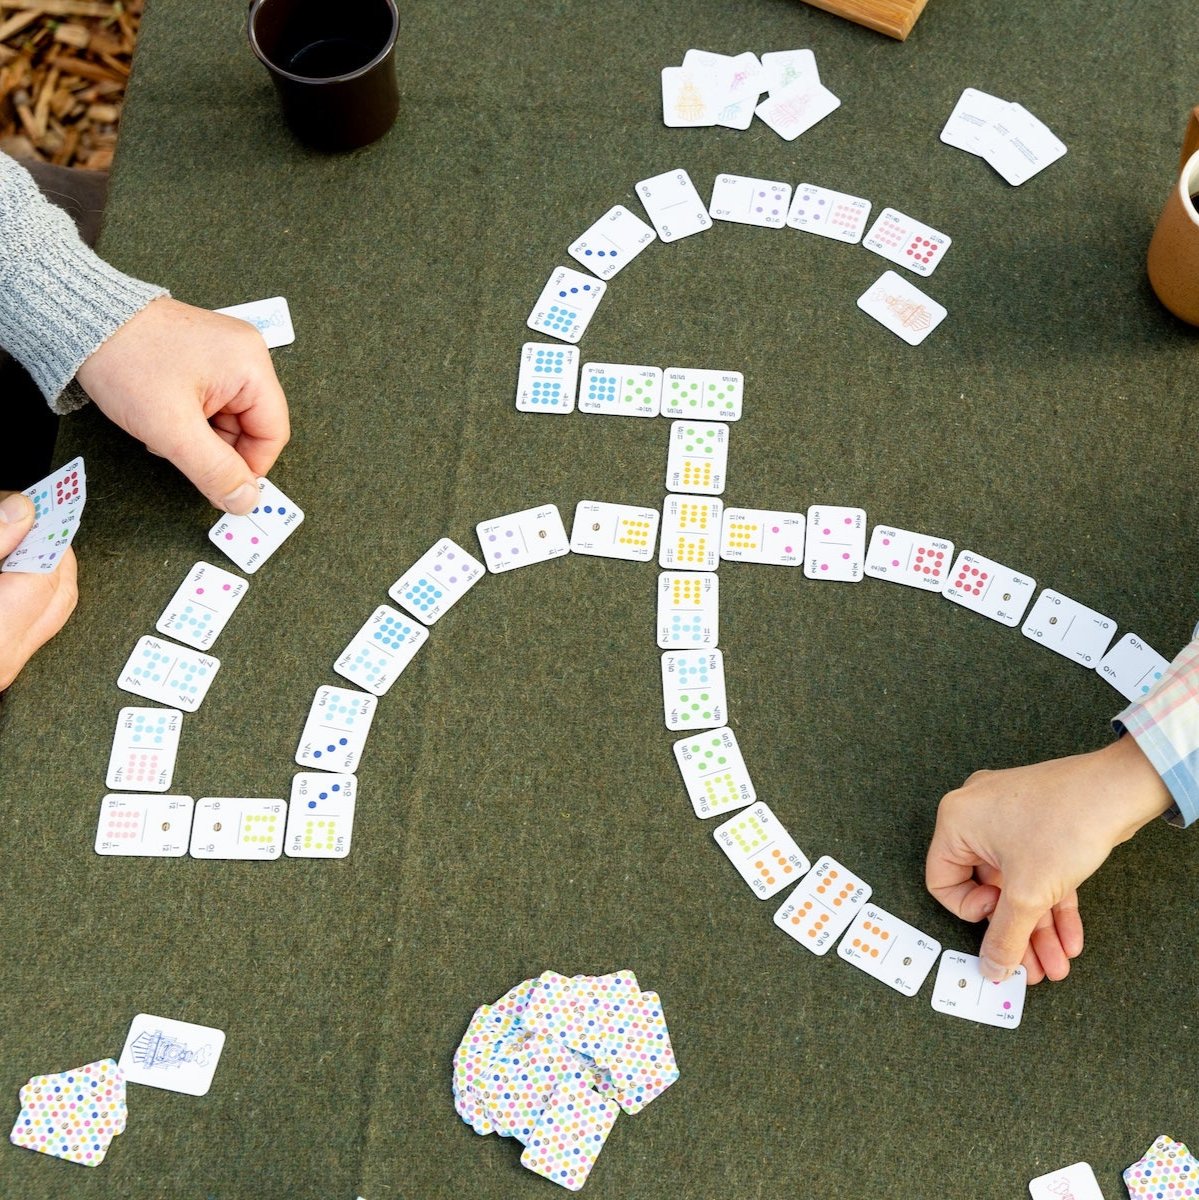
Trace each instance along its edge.
<path fill-rule="evenodd" d="M 32 176 L 0 154 L 0 347 L 56 413 L 86 401 L 64 389 L 92 350 L 163 288 L 122 275 L 80 240 Z"/>

